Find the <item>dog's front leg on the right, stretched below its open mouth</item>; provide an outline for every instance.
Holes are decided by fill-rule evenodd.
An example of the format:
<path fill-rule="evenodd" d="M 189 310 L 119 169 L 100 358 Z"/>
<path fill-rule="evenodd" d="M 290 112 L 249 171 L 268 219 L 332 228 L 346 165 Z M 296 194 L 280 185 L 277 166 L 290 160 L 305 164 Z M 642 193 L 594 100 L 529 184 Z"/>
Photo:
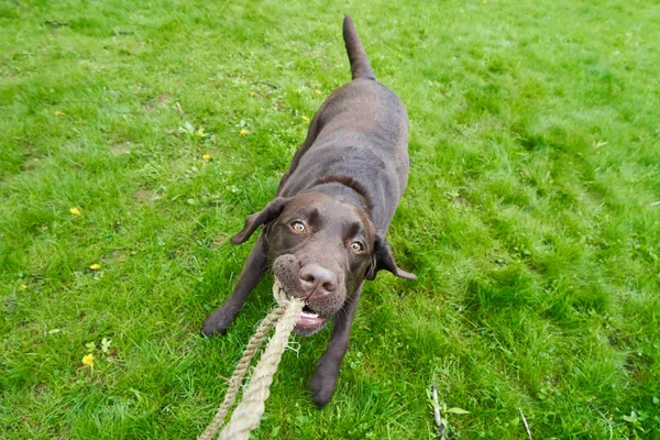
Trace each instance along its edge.
<path fill-rule="evenodd" d="M 364 283 L 358 287 L 358 290 L 332 319 L 332 332 L 330 333 L 328 349 L 317 362 L 317 370 L 309 383 L 311 398 L 319 408 L 330 402 L 337 387 L 339 367 L 349 349 L 353 317 L 355 316 L 363 285 Z"/>

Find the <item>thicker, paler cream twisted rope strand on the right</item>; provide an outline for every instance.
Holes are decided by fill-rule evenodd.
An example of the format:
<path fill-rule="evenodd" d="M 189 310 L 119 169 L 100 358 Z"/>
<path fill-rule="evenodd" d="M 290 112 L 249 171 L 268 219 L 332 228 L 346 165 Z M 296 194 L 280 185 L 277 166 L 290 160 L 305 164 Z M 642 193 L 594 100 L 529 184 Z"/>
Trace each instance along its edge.
<path fill-rule="evenodd" d="M 271 395 L 270 387 L 273 383 L 273 375 L 277 371 L 282 353 L 304 306 L 305 302 L 301 299 L 292 299 L 287 305 L 285 314 L 275 328 L 275 334 L 266 345 L 266 350 L 243 392 L 243 400 L 234 409 L 229 422 L 218 436 L 219 440 L 245 440 L 250 436 L 250 431 L 258 426 L 261 416 L 264 414 L 265 400 Z"/>

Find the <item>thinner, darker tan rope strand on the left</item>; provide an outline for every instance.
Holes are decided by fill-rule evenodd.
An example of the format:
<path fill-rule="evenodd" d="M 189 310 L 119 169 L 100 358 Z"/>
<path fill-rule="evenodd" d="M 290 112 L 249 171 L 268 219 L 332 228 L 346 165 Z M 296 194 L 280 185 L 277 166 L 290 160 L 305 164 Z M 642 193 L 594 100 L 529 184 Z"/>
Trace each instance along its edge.
<path fill-rule="evenodd" d="M 243 351 L 243 355 L 241 356 L 241 360 L 239 361 L 237 369 L 234 370 L 234 373 L 231 376 L 231 380 L 229 381 L 229 387 L 227 388 L 224 400 L 222 402 L 222 405 L 220 405 L 220 407 L 218 408 L 213 421 L 211 421 L 211 424 L 207 427 L 202 435 L 199 436 L 199 440 L 211 440 L 211 438 L 216 435 L 216 432 L 218 432 L 218 430 L 222 426 L 222 422 L 224 422 L 224 418 L 227 417 L 229 409 L 233 406 L 237 399 L 239 387 L 243 382 L 245 373 L 248 373 L 248 369 L 250 367 L 250 362 L 252 362 L 252 358 L 254 358 L 254 354 L 265 341 L 275 322 L 277 322 L 279 317 L 284 314 L 284 310 L 285 308 L 283 306 L 273 309 L 268 314 L 268 316 L 266 316 L 264 320 L 261 321 L 258 328 L 256 329 L 252 338 L 250 338 L 250 342 L 248 342 L 248 346 Z"/>

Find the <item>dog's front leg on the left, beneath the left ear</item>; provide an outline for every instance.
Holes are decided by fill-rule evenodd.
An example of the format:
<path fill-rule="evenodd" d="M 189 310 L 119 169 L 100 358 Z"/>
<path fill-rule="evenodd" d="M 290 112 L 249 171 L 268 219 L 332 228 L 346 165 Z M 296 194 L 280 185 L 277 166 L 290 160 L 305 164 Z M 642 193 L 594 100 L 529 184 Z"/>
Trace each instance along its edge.
<path fill-rule="evenodd" d="M 248 262 L 245 262 L 243 272 L 241 272 L 241 277 L 237 283 L 237 287 L 229 298 L 227 298 L 224 304 L 218 307 L 216 311 L 204 320 L 204 324 L 201 326 L 201 333 L 204 336 L 210 337 L 212 334 L 224 334 L 227 332 L 227 328 L 237 315 L 239 315 L 239 311 L 245 304 L 248 295 L 250 295 L 254 286 L 256 286 L 262 276 L 264 276 L 267 268 L 268 261 L 264 250 L 263 237 L 260 235 L 252 252 L 250 252 L 250 256 L 248 257 Z"/>

